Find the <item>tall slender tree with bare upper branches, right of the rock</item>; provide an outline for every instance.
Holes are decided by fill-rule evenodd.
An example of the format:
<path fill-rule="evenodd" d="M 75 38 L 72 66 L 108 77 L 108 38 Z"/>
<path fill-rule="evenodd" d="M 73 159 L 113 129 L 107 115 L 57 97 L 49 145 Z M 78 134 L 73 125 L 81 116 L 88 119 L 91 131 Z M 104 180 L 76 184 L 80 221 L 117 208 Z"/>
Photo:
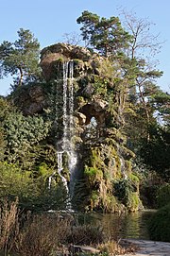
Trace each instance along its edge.
<path fill-rule="evenodd" d="M 151 33 L 151 26 L 147 19 L 139 19 L 133 12 L 122 11 L 123 25 L 126 27 L 127 32 L 131 35 L 131 40 L 125 51 L 129 66 L 127 73 L 132 71 L 131 75 L 134 77 L 128 86 L 129 102 L 135 112 L 135 117 L 132 117 L 131 125 L 129 125 L 129 136 L 133 136 L 138 130 L 138 137 L 146 137 L 149 140 L 149 127 L 154 121 L 155 108 L 151 104 L 151 99 L 154 95 L 160 94 L 161 89 L 157 84 L 157 79 L 162 76 L 162 72 L 156 68 L 157 60 L 151 59 L 155 57 L 161 49 L 162 42 L 160 41 L 159 34 L 153 35 Z M 129 117 L 129 116 L 128 116 Z M 141 120 L 143 120 L 141 122 Z M 129 118 L 128 120 L 129 121 Z M 134 128 L 134 125 L 135 128 Z M 139 126 L 138 126 L 139 123 Z M 140 136 L 139 136 L 139 131 Z M 134 142 L 136 140 L 134 137 Z"/>

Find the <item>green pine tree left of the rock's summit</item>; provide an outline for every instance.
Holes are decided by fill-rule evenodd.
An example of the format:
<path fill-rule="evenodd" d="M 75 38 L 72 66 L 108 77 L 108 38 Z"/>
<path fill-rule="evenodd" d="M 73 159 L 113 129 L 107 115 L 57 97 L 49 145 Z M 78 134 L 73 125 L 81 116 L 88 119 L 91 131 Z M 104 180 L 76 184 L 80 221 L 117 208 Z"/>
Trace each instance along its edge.
<path fill-rule="evenodd" d="M 28 29 L 17 33 L 19 39 L 14 43 L 4 41 L 0 45 L 0 77 L 11 75 L 14 87 L 40 76 L 40 43 Z"/>

